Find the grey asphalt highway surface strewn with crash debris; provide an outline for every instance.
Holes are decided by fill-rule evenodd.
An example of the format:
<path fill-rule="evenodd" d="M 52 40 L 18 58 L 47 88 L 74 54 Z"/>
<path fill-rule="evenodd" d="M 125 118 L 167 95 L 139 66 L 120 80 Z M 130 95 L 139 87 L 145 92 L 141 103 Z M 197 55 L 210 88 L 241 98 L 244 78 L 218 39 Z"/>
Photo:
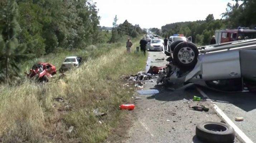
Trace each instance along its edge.
<path fill-rule="evenodd" d="M 166 60 L 156 61 L 157 58 L 167 58 L 163 52 L 148 52 L 152 62 L 151 65 L 164 66 Z M 195 137 L 195 127 L 197 123 L 204 121 L 223 120 L 219 117 L 210 101 L 190 101 L 194 95 L 202 96 L 197 86 L 191 85 L 180 90 L 169 90 L 162 85 L 154 82 L 147 82 L 144 85 L 146 89 L 158 89 L 159 94 L 136 95 L 142 100 L 136 100 L 135 121 L 129 131 L 128 143 L 201 143 Z M 201 87 L 200 87 L 201 88 Z M 202 88 L 201 88 L 202 89 Z M 221 92 L 202 89 L 213 100 L 222 100 L 229 103 L 216 102 L 226 115 L 235 122 L 235 117 L 245 117 L 245 121 L 235 124 L 241 130 L 255 141 L 255 120 L 256 116 L 255 102 L 256 96 L 252 94 L 225 94 Z M 189 106 L 203 104 L 210 107 L 209 112 L 200 112 L 190 110 Z M 253 132 L 254 131 L 254 132 Z M 236 135 L 237 136 L 237 135 Z M 236 143 L 242 142 L 242 139 L 236 138 Z"/>

